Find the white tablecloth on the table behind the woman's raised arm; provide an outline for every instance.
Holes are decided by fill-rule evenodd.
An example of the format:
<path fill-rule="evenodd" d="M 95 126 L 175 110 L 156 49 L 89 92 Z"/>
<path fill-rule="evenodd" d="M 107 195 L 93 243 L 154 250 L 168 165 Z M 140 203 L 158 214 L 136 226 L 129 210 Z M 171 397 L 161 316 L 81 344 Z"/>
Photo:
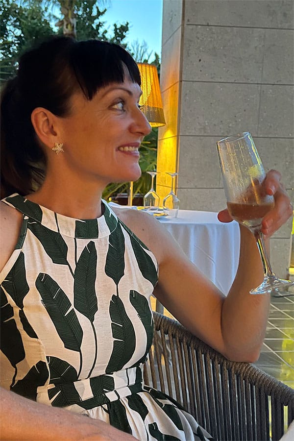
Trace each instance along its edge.
<path fill-rule="evenodd" d="M 179 210 L 177 218 L 157 219 L 197 268 L 227 294 L 239 262 L 238 223 L 222 223 L 217 213 L 192 210 Z"/>

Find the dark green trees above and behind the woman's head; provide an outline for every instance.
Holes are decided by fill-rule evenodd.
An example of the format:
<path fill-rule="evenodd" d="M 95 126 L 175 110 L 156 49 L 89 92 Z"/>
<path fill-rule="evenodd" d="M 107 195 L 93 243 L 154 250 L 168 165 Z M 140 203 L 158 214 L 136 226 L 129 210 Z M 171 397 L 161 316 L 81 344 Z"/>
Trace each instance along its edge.
<path fill-rule="evenodd" d="M 105 28 L 97 0 L 2 0 L 0 1 L 1 82 L 13 76 L 20 55 L 35 41 L 64 32 L 64 22 L 76 21 L 78 40 L 98 39 L 120 44 L 128 32 L 128 22 Z M 70 6 L 68 6 L 70 5 Z M 69 9 L 71 8 L 71 9 Z M 56 25 L 55 25 L 56 24 Z M 110 36 L 109 34 L 112 34 Z"/>

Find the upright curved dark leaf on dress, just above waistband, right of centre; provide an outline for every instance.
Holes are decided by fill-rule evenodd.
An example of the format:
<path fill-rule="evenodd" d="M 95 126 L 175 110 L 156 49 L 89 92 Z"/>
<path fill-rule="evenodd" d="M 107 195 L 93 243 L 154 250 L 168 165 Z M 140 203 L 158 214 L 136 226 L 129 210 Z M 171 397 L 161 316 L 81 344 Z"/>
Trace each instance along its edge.
<path fill-rule="evenodd" d="M 122 300 L 117 295 L 112 296 L 109 314 L 112 320 L 111 329 L 114 342 L 106 373 L 123 369 L 131 359 L 136 343 L 134 327 L 125 312 Z"/>

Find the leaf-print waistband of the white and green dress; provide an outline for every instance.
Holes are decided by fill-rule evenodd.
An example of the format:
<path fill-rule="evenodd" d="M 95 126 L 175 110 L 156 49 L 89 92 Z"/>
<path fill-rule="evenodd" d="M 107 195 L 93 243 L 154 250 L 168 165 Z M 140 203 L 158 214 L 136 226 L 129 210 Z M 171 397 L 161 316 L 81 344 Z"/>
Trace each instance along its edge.
<path fill-rule="evenodd" d="M 72 383 L 39 386 L 37 401 L 54 407 L 78 404 L 91 409 L 142 391 L 142 382 L 143 364 Z"/>

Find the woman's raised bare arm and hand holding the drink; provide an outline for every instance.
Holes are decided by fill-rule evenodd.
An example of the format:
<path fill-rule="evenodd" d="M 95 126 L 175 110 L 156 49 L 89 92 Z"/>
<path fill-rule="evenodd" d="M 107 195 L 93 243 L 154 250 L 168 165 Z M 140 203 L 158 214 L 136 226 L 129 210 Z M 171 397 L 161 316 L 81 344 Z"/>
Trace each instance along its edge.
<path fill-rule="evenodd" d="M 263 220 L 263 233 L 268 236 L 291 215 L 290 200 L 279 179 L 278 172 L 268 173 L 268 192 L 275 195 L 275 207 Z M 220 219 L 231 221 L 226 210 Z M 134 211 L 127 221 L 157 258 L 159 283 L 154 294 L 160 302 L 193 334 L 227 358 L 255 361 L 266 332 L 270 295 L 249 294 L 263 280 L 261 259 L 250 231 L 241 227 L 239 267 L 225 297 L 188 260 L 158 221 Z"/>

